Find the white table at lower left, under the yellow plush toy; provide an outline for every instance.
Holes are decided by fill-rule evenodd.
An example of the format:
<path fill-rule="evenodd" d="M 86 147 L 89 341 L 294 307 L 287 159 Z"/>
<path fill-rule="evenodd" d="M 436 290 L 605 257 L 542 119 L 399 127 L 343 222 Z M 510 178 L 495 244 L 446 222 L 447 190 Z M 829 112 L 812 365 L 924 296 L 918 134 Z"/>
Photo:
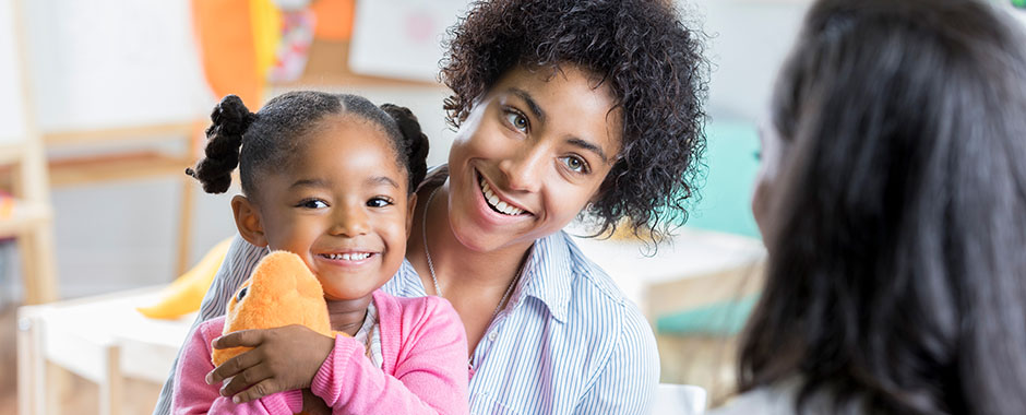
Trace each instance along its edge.
<path fill-rule="evenodd" d="M 79 298 L 17 310 L 19 413 L 55 414 L 62 370 L 99 384 L 99 413 L 121 413 L 123 379 L 163 383 L 195 315 L 143 317 L 160 287 Z"/>

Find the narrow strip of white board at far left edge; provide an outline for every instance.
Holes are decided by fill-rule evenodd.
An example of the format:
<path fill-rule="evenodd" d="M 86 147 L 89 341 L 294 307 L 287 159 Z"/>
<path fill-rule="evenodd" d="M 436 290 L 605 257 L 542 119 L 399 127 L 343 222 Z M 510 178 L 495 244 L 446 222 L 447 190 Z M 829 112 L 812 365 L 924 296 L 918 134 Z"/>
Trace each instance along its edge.
<path fill-rule="evenodd" d="M 24 140 L 12 0 L 0 0 L 0 144 Z"/>

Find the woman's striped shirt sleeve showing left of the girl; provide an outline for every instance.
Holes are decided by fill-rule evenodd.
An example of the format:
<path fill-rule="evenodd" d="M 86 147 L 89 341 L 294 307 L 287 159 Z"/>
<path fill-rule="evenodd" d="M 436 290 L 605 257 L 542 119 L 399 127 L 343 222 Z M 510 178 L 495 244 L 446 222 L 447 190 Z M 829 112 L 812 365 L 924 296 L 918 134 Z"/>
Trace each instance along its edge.
<path fill-rule="evenodd" d="M 235 239 L 231 240 L 231 246 L 228 248 L 225 261 L 220 264 L 220 269 L 217 270 L 214 282 L 206 292 L 206 296 L 203 297 L 203 303 L 200 306 L 200 315 L 196 316 L 195 322 L 192 323 L 193 331 L 204 321 L 224 316 L 228 299 L 239 285 L 249 277 L 253 268 L 256 266 L 256 263 L 260 262 L 260 259 L 266 253 L 266 249 L 255 247 L 236 234 Z M 184 348 L 182 348 L 182 351 L 183 349 Z M 164 389 L 160 391 L 160 398 L 153 410 L 153 415 L 168 415 L 170 413 L 171 392 L 175 390 L 175 368 L 178 366 L 178 360 L 182 357 L 182 351 L 179 351 L 178 358 L 176 358 L 175 363 L 171 365 L 171 370 L 168 374 L 167 380 L 164 382 Z"/>

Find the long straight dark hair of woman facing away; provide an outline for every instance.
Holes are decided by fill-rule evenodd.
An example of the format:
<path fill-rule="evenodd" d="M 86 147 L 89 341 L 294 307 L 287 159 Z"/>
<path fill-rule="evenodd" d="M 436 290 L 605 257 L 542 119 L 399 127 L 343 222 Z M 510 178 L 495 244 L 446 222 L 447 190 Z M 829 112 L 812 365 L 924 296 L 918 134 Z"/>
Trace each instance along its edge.
<path fill-rule="evenodd" d="M 747 391 L 1026 414 L 1026 40 L 982 1 L 822 0 L 773 100 L 788 149 Z"/>

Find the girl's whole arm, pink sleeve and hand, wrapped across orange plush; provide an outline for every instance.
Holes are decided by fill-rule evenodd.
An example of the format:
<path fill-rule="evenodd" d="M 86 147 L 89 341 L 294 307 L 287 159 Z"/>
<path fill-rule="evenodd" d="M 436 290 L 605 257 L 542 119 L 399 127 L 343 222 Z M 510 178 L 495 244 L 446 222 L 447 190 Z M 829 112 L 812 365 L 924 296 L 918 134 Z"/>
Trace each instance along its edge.
<path fill-rule="evenodd" d="M 336 336 L 322 352 L 317 339 L 321 334 L 289 325 L 243 330 L 218 339 L 217 348 L 254 348 L 218 366 L 212 379 L 218 384 L 232 378 L 225 392 L 240 402 L 310 387 L 335 413 L 466 414 L 469 371 L 463 322 L 449 301 L 418 299 L 410 303 L 418 309 L 405 312 L 402 321 L 382 322 L 408 328 L 403 339 L 398 329 L 395 334 L 382 334 L 382 349 L 397 355 L 392 357 L 394 368 L 389 367 L 390 357 L 385 357 L 385 371 L 372 365 L 365 357 L 366 346 L 355 339 Z"/>

